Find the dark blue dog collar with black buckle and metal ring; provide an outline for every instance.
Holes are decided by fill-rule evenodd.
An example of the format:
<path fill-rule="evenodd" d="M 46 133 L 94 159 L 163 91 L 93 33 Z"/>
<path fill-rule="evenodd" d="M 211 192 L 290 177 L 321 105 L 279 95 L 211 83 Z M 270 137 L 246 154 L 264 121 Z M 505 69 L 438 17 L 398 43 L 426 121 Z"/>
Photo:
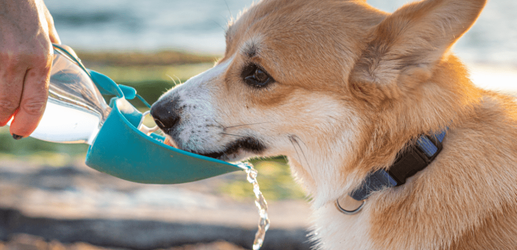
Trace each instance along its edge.
<path fill-rule="evenodd" d="M 442 142 L 446 133 L 447 130 L 444 130 L 432 136 L 421 135 L 418 137 L 415 144 L 399 152 L 397 160 L 388 170 L 379 169 L 369 174 L 362 185 L 349 194 L 353 199 L 362 201 L 357 209 L 353 211 L 343 209 L 339 205 L 339 199 L 336 200 L 338 209 L 346 214 L 355 214 L 362 209 L 364 200 L 371 193 L 406 183 L 407 178 L 412 177 L 418 171 L 429 166 L 438 153 L 442 151 Z"/>

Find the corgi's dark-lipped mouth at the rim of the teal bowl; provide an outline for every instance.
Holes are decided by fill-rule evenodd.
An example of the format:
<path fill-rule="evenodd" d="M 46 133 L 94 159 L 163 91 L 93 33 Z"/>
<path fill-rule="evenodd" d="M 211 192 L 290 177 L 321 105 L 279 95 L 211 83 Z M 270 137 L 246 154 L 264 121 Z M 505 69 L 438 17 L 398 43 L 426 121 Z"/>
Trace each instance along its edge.
<path fill-rule="evenodd" d="M 195 154 L 203 155 L 205 157 L 210 157 L 223 161 L 232 161 L 237 160 L 239 155 L 243 152 L 251 152 L 258 154 L 263 152 L 265 149 L 266 146 L 260 140 L 253 137 L 245 137 L 230 143 L 222 151 L 196 152 L 194 150 L 185 150 Z"/>

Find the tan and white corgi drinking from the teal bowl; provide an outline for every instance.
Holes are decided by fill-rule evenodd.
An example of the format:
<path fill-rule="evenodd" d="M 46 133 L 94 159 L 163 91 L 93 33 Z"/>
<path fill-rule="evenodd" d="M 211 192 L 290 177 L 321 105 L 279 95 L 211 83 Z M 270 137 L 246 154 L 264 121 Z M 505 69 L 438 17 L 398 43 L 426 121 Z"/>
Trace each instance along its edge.
<path fill-rule="evenodd" d="M 151 115 L 179 149 L 287 155 L 318 249 L 517 249 L 517 103 L 473 85 L 450 52 L 485 2 L 390 14 L 362 0 L 263 0 L 230 23 L 223 58 Z M 404 184 L 349 198 L 440 133 L 441 151 Z"/>

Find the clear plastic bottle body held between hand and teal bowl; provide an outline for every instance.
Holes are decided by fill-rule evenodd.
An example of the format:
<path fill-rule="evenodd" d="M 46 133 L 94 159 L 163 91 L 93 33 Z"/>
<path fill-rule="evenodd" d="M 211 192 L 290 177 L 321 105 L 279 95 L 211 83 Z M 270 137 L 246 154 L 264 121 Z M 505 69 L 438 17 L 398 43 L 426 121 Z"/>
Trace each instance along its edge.
<path fill-rule="evenodd" d="M 75 61 L 78 57 L 73 50 L 66 45 L 59 46 L 66 50 L 54 48 L 47 107 L 31 137 L 92 145 L 111 107 L 88 73 Z"/>

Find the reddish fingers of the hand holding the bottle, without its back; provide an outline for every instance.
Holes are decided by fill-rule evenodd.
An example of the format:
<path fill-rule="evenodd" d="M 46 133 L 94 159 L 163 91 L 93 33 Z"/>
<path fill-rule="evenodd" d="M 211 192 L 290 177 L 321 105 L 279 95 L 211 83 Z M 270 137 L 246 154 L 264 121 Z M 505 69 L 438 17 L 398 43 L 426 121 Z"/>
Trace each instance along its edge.
<path fill-rule="evenodd" d="M 48 38 L 46 43 L 35 45 L 34 51 L 0 51 L 0 126 L 14 116 L 10 132 L 15 138 L 36 129 L 47 104 L 53 53 Z"/>

